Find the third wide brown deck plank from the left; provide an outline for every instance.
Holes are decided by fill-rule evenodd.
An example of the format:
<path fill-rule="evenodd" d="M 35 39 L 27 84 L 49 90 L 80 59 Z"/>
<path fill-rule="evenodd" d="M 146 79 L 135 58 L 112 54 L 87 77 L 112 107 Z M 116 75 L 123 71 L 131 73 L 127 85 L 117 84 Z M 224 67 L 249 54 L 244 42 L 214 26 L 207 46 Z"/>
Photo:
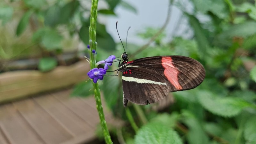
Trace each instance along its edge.
<path fill-rule="evenodd" d="M 68 95 L 68 93 L 64 93 L 61 97 L 63 97 L 63 99 L 68 99 Z M 62 124 L 63 127 L 66 127 L 74 137 L 95 131 L 95 127 L 88 125 L 83 119 L 77 116 L 52 95 L 38 97 L 34 100 L 56 121 Z"/>

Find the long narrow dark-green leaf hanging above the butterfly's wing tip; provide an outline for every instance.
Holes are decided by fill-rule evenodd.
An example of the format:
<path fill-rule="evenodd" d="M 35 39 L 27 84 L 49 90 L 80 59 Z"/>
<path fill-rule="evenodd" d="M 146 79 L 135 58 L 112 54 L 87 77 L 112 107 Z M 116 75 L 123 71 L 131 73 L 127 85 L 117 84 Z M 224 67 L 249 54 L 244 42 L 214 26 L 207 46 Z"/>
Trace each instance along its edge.
<path fill-rule="evenodd" d="M 206 36 L 206 31 L 202 28 L 200 22 L 193 15 L 186 14 L 188 16 L 189 24 L 194 30 L 196 42 L 198 44 L 199 56 L 204 58 L 207 54 L 207 50 L 210 47 L 209 41 Z"/>

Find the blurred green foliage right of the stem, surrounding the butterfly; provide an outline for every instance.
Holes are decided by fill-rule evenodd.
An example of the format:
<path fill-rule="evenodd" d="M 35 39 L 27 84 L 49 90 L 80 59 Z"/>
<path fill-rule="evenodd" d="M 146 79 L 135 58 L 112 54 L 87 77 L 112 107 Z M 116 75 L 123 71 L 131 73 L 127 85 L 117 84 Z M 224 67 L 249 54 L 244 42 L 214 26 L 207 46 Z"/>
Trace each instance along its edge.
<path fill-rule="evenodd" d="M 254 144 L 256 117 L 256 21 L 255 1 L 200 0 L 174 3 L 183 12 L 193 35 L 190 38 L 167 34 L 158 36 L 146 50 L 128 44 L 135 59 L 158 55 L 183 55 L 200 61 L 206 70 L 204 82 L 197 88 L 173 92 L 175 102 L 160 113 L 153 104 L 140 106 L 148 120 L 143 124 L 135 104 L 128 105 L 136 124 L 136 133 L 123 128 L 127 143 Z M 180 20 L 182 21 L 182 20 Z M 178 23 L 177 25 L 180 25 Z M 138 35 L 145 40 L 159 28 L 145 28 Z M 104 50 L 99 53 L 105 53 Z M 112 54 L 121 54 L 122 46 Z M 102 59 L 107 57 L 100 55 Z M 105 57 L 105 58 L 103 58 Z M 117 65 L 117 64 L 116 64 Z M 112 70 L 118 69 L 116 65 Z M 111 85 L 110 85 L 111 84 Z M 101 83 L 104 98 L 116 116 L 124 116 L 120 80 L 105 77 Z M 111 100 L 110 100 L 111 99 Z M 128 116 L 128 115 L 127 115 Z M 131 128 L 132 129 L 132 128 Z M 128 132 L 127 132 L 128 131 Z"/>

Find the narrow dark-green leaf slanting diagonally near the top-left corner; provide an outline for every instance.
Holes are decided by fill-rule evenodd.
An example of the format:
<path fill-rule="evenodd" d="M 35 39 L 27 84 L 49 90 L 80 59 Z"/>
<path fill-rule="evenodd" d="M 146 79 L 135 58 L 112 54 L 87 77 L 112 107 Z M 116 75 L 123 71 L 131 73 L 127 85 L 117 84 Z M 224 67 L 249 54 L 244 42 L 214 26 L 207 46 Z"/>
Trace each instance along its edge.
<path fill-rule="evenodd" d="M 32 15 L 32 13 L 33 13 L 33 11 L 28 11 L 20 19 L 20 22 L 19 22 L 18 27 L 16 29 L 16 35 L 17 36 L 20 36 L 20 34 L 22 34 L 24 32 L 24 30 L 27 28 L 29 18 Z"/>

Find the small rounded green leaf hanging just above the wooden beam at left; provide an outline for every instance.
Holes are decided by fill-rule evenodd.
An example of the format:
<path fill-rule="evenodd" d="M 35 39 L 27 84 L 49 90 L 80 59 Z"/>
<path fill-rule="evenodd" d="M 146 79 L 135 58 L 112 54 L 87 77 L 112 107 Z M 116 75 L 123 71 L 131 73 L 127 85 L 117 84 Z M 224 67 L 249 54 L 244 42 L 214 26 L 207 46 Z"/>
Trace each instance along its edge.
<path fill-rule="evenodd" d="M 55 68 L 57 64 L 57 60 L 54 58 L 41 58 L 39 60 L 38 69 L 42 72 L 47 72 Z"/>

